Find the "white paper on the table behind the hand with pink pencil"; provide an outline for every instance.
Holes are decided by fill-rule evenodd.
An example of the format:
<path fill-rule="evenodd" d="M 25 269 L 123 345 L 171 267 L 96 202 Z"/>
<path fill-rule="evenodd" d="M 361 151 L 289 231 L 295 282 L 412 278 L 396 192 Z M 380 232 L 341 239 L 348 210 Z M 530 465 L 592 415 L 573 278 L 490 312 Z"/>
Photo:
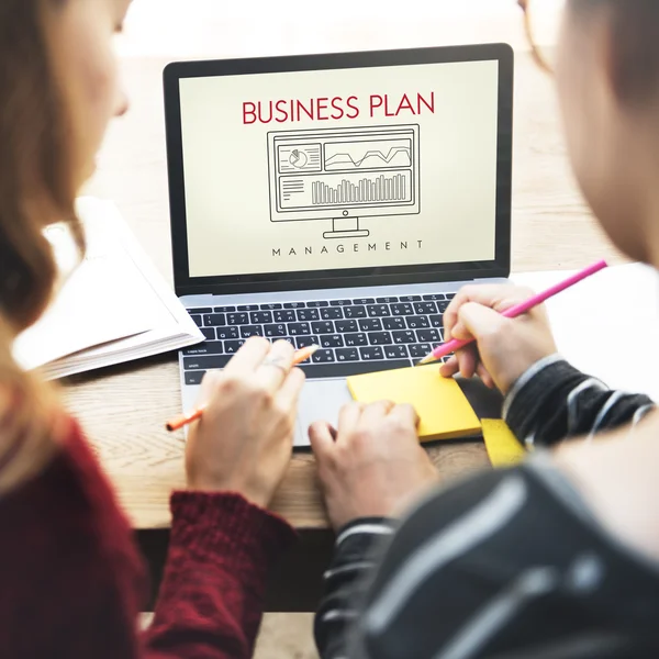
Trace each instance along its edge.
<path fill-rule="evenodd" d="M 572 271 L 512 275 L 539 292 Z M 559 351 L 613 389 L 659 401 L 659 276 L 643 264 L 606 268 L 546 303 Z"/>

